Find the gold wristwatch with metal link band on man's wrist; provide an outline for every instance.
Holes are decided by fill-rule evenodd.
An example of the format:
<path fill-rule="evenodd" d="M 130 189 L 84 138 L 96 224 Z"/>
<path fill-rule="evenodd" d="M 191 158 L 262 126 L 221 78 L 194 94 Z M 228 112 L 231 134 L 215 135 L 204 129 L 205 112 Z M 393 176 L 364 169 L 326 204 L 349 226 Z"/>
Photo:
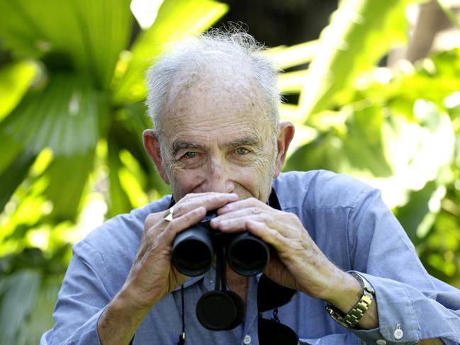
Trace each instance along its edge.
<path fill-rule="evenodd" d="M 369 309 L 369 305 L 371 305 L 372 300 L 374 300 L 374 289 L 371 287 L 368 281 L 361 277 L 358 273 L 350 272 L 354 278 L 357 278 L 361 287 L 363 288 L 363 295 L 357 302 L 357 304 L 352 307 L 346 315 L 343 312 L 338 310 L 336 307 L 332 305 L 326 305 L 326 310 L 332 319 L 342 324 L 342 326 L 347 328 L 354 328 L 359 320 L 363 317 L 364 313 Z"/>

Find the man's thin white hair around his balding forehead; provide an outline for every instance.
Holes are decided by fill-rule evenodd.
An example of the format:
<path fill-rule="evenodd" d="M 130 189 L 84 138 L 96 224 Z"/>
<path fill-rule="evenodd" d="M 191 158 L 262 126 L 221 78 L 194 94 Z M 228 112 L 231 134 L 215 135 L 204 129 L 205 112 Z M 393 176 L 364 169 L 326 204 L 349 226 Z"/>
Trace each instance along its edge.
<path fill-rule="evenodd" d="M 276 84 L 279 70 L 262 55 L 264 46 L 245 32 L 211 30 L 208 33 L 174 43 L 147 71 L 147 108 L 155 132 L 162 135 L 164 107 L 173 80 L 191 84 L 210 66 L 231 65 L 249 77 L 258 88 L 262 105 L 271 121 L 276 138 L 279 129 L 281 94 Z"/>

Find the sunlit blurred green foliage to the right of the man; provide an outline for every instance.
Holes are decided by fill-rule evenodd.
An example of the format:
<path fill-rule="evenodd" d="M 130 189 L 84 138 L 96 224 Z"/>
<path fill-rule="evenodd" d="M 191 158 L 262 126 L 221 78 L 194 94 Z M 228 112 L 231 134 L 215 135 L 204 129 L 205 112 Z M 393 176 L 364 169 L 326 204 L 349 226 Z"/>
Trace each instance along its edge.
<path fill-rule="evenodd" d="M 380 188 L 428 271 L 460 286 L 460 49 L 376 66 L 405 40 L 410 2 L 342 1 L 308 71 L 296 72 L 304 84 L 281 80 L 300 95 L 284 117 L 314 133 L 285 169 L 331 169 Z"/>

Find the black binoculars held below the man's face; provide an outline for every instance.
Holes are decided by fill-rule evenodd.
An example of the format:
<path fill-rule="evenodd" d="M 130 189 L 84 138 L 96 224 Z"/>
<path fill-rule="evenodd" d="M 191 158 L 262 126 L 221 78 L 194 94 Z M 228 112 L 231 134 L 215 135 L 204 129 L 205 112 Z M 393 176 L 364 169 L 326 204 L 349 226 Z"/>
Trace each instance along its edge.
<path fill-rule="evenodd" d="M 176 235 L 172 244 L 172 263 L 186 276 L 199 276 L 211 268 L 215 251 L 224 248 L 233 271 L 242 276 L 254 276 L 267 266 L 270 249 L 267 243 L 250 234 L 224 234 L 214 230 L 209 222 L 217 217 L 210 211 L 196 225 Z"/>

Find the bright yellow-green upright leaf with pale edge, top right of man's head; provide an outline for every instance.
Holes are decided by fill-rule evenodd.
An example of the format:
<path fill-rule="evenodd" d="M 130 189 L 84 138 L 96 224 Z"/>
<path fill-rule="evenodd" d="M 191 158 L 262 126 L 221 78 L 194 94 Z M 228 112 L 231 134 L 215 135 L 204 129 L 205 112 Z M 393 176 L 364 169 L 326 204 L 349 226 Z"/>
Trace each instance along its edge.
<path fill-rule="evenodd" d="M 343 0 L 321 33 L 299 105 L 306 115 L 333 104 L 360 72 L 396 44 L 405 43 L 405 7 L 418 0 Z M 378 44 L 376 44 L 378 43 Z"/>

